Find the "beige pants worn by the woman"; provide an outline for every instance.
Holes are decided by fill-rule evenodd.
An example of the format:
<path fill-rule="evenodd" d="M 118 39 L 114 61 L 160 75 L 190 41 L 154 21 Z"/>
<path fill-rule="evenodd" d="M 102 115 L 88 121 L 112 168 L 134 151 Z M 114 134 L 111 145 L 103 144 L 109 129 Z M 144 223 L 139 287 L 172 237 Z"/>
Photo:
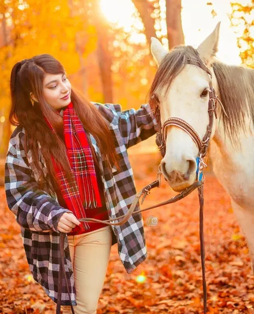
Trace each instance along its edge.
<path fill-rule="evenodd" d="M 104 285 L 111 249 L 111 227 L 68 236 L 77 292 L 75 314 L 96 314 Z M 63 314 L 71 314 L 71 306 L 61 306 Z"/>

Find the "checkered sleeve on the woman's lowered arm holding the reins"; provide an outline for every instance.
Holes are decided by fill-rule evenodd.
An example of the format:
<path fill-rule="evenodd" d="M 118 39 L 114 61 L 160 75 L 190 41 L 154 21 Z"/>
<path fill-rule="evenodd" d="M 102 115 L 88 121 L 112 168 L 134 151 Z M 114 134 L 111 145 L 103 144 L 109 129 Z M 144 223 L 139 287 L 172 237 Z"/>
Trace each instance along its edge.
<path fill-rule="evenodd" d="M 5 164 L 5 190 L 8 207 L 15 214 L 16 222 L 31 231 L 58 232 L 61 215 L 70 212 L 39 189 L 25 158 L 11 144 Z"/>

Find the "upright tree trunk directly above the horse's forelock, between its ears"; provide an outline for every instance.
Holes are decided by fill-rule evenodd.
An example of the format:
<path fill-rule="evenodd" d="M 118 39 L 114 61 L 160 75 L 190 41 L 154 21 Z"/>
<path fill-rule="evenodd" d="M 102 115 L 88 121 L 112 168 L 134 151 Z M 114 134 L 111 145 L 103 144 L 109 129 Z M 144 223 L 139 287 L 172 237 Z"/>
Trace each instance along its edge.
<path fill-rule="evenodd" d="M 184 44 L 181 19 L 181 0 L 166 0 L 166 20 L 169 49 Z"/>

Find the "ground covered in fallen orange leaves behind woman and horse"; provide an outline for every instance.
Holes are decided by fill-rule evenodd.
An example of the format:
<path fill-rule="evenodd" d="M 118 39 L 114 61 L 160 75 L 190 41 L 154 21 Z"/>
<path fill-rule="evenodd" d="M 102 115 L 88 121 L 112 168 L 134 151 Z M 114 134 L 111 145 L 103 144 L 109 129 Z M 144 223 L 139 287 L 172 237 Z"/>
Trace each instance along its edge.
<path fill-rule="evenodd" d="M 137 190 L 154 180 L 153 167 L 138 166 L 134 171 Z M 163 180 L 143 206 L 173 195 Z M 0 313 L 54 314 L 55 304 L 30 275 L 20 229 L 7 208 L 3 188 L 0 200 Z M 156 226 L 147 224 L 151 216 L 157 219 Z M 148 258 L 128 275 L 116 245 L 112 247 L 98 314 L 202 313 L 197 191 L 176 204 L 146 211 L 143 217 Z M 204 230 L 209 313 L 254 313 L 254 276 L 246 242 L 229 197 L 209 174 Z"/>

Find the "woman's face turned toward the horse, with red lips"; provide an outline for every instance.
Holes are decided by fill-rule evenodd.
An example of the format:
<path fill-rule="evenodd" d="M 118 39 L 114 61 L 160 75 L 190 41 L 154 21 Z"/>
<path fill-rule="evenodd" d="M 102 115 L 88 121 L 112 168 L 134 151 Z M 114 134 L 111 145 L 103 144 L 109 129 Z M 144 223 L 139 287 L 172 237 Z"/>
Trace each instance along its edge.
<path fill-rule="evenodd" d="M 66 107 L 71 102 L 71 83 L 66 74 L 46 74 L 43 81 L 43 95 L 53 109 Z"/>

